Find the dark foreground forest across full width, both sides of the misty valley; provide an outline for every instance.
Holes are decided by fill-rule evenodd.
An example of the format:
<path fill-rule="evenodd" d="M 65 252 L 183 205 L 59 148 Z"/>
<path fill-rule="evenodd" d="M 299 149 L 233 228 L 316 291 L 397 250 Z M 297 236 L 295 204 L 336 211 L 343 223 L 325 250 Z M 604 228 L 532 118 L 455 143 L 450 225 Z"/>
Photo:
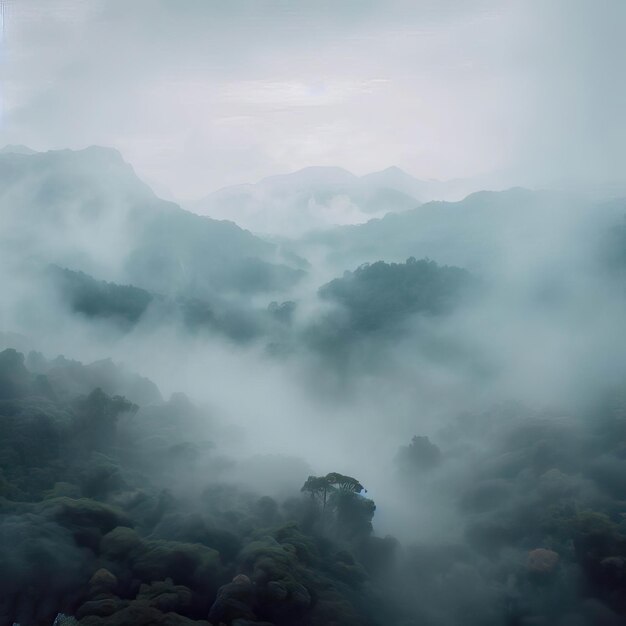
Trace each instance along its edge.
<path fill-rule="evenodd" d="M 395 460 L 405 506 L 431 499 L 462 527 L 402 547 L 373 534 L 355 478 L 251 493 L 228 480 L 237 461 L 220 453 L 217 422 L 184 396 L 163 402 L 110 362 L 5 350 L 0 620 L 617 625 L 625 407 L 615 393 L 593 420 L 502 406 L 436 444 L 416 436 Z"/>

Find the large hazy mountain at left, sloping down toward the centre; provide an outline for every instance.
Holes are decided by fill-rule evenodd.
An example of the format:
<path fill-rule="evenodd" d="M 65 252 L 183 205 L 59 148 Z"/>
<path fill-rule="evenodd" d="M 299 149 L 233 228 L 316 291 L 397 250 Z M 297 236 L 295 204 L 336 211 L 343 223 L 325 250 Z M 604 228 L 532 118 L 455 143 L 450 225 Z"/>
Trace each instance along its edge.
<path fill-rule="evenodd" d="M 280 290 L 301 276 L 230 222 L 157 198 L 114 150 L 0 155 L 5 251 L 161 293 Z"/>

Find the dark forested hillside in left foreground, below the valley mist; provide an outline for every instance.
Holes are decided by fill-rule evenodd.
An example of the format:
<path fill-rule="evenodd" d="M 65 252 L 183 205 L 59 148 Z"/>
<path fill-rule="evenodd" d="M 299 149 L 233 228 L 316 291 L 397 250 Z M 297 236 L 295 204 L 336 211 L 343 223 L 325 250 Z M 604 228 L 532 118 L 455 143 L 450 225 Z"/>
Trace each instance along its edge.
<path fill-rule="evenodd" d="M 369 500 L 337 489 L 331 519 L 297 493 L 248 493 L 220 480 L 229 462 L 184 397 L 163 403 L 119 371 L 27 361 L 47 374 L 0 353 L 2 624 L 57 613 L 85 625 L 375 623 L 356 560 L 376 569 Z M 109 393 L 77 393 L 86 380 Z"/>

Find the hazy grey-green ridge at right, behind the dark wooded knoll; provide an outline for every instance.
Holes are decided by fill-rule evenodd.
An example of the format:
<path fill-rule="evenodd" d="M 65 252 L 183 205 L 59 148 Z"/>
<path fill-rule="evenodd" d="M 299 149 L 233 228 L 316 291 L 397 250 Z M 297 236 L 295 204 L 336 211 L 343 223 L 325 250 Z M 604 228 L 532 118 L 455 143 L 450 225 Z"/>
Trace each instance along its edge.
<path fill-rule="evenodd" d="M 558 253 L 585 229 L 595 237 L 618 222 L 625 207 L 626 201 L 598 203 L 550 191 L 481 191 L 460 202 L 429 202 L 366 224 L 311 233 L 294 249 L 321 249 L 343 267 L 416 256 L 485 271 L 503 262 L 521 263 L 524 255 L 532 260 Z"/>

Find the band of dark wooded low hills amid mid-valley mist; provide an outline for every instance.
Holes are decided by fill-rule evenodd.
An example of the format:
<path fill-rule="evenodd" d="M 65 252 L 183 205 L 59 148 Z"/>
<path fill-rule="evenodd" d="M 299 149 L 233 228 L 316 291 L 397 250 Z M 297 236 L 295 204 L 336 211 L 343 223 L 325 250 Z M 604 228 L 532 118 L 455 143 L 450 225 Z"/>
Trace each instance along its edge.
<path fill-rule="evenodd" d="M 350 350 L 359 339 L 397 333 L 420 316 L 445 315 L 476 285 L 467 271 L 428 259 L 365 264 L 323 285 L 319 295 L 334 308 L 297 327 L 294 301 L 273 301 L 261 308 L 243 302 L 233 305 L 219 297 L 173 298 L 57 266 L 49 267 L 45 276 L 72 312 L 113 322 L 123 332 L 142 320 L 157 326 L 179 323 L 187 331 L 218 334 L 239 343 L 257 339 L 274 350 L 294 349 L 304 335 L 309 346 L 324 354 L 328 348 Z"/>

